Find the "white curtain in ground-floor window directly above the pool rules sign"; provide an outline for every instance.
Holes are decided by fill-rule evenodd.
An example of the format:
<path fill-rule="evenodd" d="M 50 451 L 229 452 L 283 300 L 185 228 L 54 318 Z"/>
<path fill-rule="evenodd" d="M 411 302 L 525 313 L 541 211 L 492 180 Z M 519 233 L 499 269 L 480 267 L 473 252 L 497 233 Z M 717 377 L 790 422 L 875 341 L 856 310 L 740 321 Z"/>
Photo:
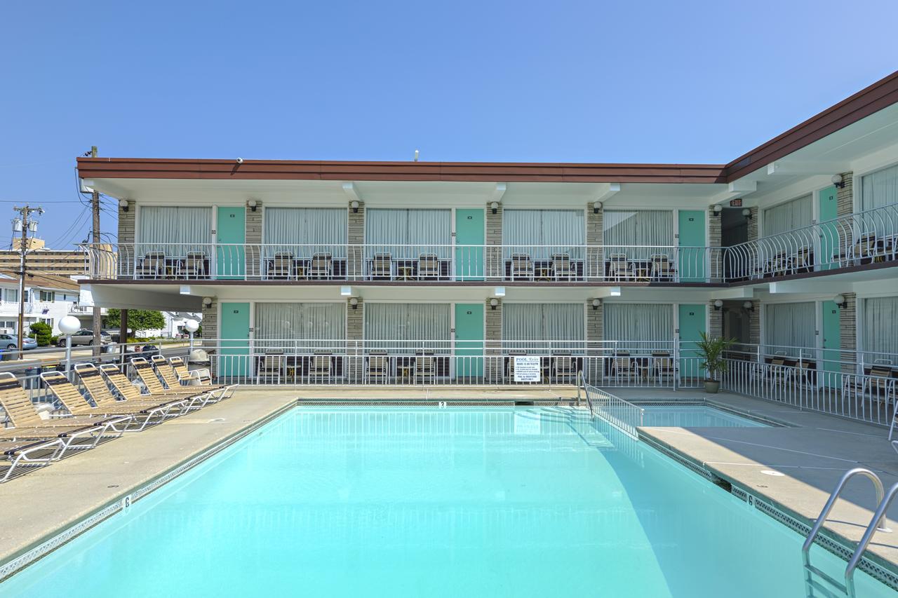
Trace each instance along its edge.
<path fill-rule="evenodd" d="M 503 303 L 502 339 L 507 348 L 580 349 L 583 309 L 583 303 Z"/>

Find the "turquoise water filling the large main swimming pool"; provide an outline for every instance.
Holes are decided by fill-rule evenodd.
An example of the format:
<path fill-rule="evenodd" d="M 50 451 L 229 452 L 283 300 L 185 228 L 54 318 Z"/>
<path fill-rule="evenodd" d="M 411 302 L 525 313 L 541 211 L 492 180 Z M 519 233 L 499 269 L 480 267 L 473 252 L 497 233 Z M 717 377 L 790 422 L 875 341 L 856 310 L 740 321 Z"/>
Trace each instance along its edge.
<path fill-rule="evenodd" d="M 582 411 L 294 409 L 0 595 L 791 598 L 800 546 Z"/>

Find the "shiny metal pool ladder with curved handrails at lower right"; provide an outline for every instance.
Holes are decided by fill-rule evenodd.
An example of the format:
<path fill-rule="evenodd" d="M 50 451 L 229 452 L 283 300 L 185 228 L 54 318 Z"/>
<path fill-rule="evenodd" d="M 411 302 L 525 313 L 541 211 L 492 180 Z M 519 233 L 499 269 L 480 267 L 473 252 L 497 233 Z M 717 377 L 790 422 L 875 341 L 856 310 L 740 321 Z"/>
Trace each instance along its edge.
<path fill-rule="evenodd" d="M 826 518 L 829 516 L 830 511 L 832 511 L 832 506 L 835 505 L 836 500 L 841 495 L 842 488 L 845 488 L 845 485 L 851 478 L 858 475 L 870 479 L 870 481 L 873 482 L 874 488 L 876 488 L 876 512 L 873 514 L 873 518 L 867 525 L 867 530 L 861 537 L 860 542 L 858 542 L 858 548 L 855 549 L 854 554 L 851 555 L 848 566 L 845 567 L 845 582 L 843 584 L 840 581 L 834 579 L 832 576 L 824 573 L 819 568 L 811 565 L 810 551 L 811 545 L 814 544 L 814 538 L 817 537 L 817 533 L 820 532 L 820 528 L 822 528 L 823 523 L 826 522 Z M 845 475 L 841 477 L 839 483 L 836 485 L 836 488 L 832 490 L 832 494 L 830 495 L 829 500 L 827 500 L 826 504 L 823 505 L 823 510 L 820 512 L 820 516 L 817 517 L 816 522 L 814 522 L 814 527 L 811 528 L 811 532 L 807 534 L 805 544 L 801 547 L 802 558 L 804 559 L 805 563 L 805 585 L 808 596 L 818 595 L 813 593 L 814 589 L 821 590 L 827 595 L 832 595 L 826 590 L 826 588 L 822 587 L 818 582 L 814 581 L 814 576 L 818 576 L 821 579 L 825 580 L 828 584 L 837 588 L 841 593 L 849 596 L 850 598 L 855 598 L 854 571 L 856 568 L 858 568 L 858 563 L 860 562 L 860 559 L 863 558 L 864 551 L 867 550 L 867 546 L 873 539 L 873 534 L 875 534 L 876 532 L 892 531 L 885 527 L 885 512 L 888 510 L 889 506 L 892 505 L 892 501 L 894 500 L 895 495 L 898 495 L 898 482 L 895 482 L 892 487 L 889 488 L 888 492 L 885 492 L 885 490 L 883 489 L 883 480 L 879 479 L 879 476 L 877 476 L 873 471 L 867 470 L 863 467 L 856 467 L 853 470 L 848 470 L 845 472 Z"/>

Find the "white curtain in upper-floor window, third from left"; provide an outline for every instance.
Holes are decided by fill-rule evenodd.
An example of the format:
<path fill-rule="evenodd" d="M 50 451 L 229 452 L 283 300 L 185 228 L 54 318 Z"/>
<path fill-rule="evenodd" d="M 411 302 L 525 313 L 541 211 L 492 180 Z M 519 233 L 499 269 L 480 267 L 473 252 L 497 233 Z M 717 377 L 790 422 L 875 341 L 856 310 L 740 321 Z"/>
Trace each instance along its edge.
<path fill-rule="evenodd" d="M 375 246 L 368 249 L 369 257 L 374 253 L 390 253 L 393 259 L 417 259 L 422 253 L 436 253 L 440 259 L 449 259 L 452 210 L 366 210 L 365 243 Z"/>

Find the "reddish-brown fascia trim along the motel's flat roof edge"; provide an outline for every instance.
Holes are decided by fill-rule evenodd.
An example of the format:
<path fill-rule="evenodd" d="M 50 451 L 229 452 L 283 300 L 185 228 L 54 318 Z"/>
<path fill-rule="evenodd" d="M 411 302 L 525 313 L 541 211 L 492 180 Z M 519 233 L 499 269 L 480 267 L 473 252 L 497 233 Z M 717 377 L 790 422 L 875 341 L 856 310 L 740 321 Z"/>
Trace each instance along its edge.
<path fill-rule="evenodd" d="M 82 179 L 726 183 L 898 102 L 898 71 L 727 164 L 78 158 Z"/>

